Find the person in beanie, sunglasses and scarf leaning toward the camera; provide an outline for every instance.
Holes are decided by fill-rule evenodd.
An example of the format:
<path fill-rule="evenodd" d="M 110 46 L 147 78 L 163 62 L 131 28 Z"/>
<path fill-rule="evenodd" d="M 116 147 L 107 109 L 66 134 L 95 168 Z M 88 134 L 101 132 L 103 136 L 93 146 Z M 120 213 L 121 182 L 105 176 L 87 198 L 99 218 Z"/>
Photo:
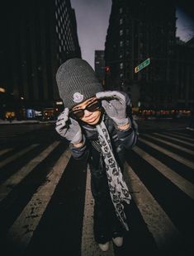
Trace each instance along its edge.
<path fill-rule="evenodd" d="M 130 192 L 123 165 L 127 149 L 136 143 L 138 132 L 131 116 L 130 98 L 124 92 L 104 91 L 86 60 L 73 58 L 56 73 L 64 111 L 55 130 L 69 141 L 74 159 L 87 159 L 94 199 L 94 239 L 102 251 L 112 240 L 122 246 L 129 230 L 125 206 Z"/>

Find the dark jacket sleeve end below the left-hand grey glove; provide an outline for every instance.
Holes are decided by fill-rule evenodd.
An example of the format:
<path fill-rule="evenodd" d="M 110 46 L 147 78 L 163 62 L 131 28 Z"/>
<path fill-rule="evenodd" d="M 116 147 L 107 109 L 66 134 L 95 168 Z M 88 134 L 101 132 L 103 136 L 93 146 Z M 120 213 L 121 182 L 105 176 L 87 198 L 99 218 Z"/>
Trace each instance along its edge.
<path fill-rule="evenodd" d="M 81 147 L 76 148 L 73 146 L 73 144 L 69 144 L 69 149 L 74 159 L 88 159 L 90 147 L 87 143 L 85 136 L 83 136 L 83 145 Z"/>

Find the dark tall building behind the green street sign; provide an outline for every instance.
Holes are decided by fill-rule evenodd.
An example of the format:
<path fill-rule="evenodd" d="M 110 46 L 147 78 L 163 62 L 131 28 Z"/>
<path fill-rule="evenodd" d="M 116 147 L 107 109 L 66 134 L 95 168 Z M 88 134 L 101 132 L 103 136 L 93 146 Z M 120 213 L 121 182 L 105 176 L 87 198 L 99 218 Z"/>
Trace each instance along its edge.
<path fill-rule="evenodd" d="M 129 93 L 134 107 L 176 107 L 176 45 L 173 1 L 112 0 L 105 43 L 106 87 Z M 135 73 L 146 59 L 150 64 Z"/>

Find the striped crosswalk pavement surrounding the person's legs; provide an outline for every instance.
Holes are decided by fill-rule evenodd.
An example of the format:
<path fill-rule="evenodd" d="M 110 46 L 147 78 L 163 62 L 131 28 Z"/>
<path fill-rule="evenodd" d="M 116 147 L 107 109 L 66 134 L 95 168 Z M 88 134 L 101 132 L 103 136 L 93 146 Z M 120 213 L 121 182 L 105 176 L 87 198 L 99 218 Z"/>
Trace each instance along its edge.
<path fill-rule="evenodd" d="M 60 140 L 0 148 L 1 247 L 28 256 L 193 253 L 193 149 L 192 131 L 140 134 L 125 164 L 130 234 L 121 249 L 111 243 L 102 253 L 92 234 L 87 164 Z"/>

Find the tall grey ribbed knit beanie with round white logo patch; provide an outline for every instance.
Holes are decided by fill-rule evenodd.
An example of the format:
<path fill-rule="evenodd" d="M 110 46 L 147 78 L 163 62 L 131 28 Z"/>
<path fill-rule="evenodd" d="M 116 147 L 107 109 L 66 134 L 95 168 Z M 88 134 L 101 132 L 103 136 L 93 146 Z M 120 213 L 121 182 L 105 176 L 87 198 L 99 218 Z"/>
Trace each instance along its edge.
<path fill-rule="evenodd" d="M 64 107 L 69 109 L 103 91 L 94 70 L 83 59 L 68 59 L 61 64 L 56 73 L 56 81 Z"/>

